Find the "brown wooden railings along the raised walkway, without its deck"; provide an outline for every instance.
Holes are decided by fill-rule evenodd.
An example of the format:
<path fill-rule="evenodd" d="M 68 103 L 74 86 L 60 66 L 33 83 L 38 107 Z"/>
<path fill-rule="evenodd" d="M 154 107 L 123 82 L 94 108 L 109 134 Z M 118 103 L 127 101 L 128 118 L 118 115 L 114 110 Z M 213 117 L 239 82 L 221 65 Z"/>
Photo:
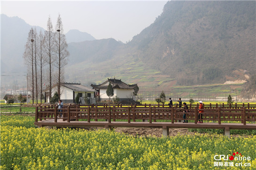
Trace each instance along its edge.
<path fill-rule="evenodd" d="M 252 105 L 247 106 L 230 106 L 230 108 L 218 107 L 217 105 L 207 107 L 203 109 L 202 120 L 216 121 L 220 125 L 222 121 L 239 121 L 246 125 L 247 121 L 256 121 L 256 107 Z M 64 121 L 78 121 L 79 119 L 86 119 L 85 121 L 91 122 L 91 119 L 98 121 L 103 119 L 111 123 L 116 120 L 127 120 L 128 123 L 136 120 L 149 121 L 149 123 L 156 122 L 157 120 L 171 120 L 171 124 L 174 122 L 184 120 L 183 114 L 186 114 L 186 120 L 193 120 L 197 124 L 198 119 L 198 107 L 189 107 L 189 112 L 184 113 L 184 109 L 175 107 L 165 107 L 165 105 L 157 106 L 82 106 L 82 105 L 68 105 L 62 109 L 58 109 L 57 106 L 41 106 L 36 107 L 35 121 L 38 119 L 54 119 L 57 122 L 58 119 Z M 62 113 L 62 117 L 60 116 Z"/>

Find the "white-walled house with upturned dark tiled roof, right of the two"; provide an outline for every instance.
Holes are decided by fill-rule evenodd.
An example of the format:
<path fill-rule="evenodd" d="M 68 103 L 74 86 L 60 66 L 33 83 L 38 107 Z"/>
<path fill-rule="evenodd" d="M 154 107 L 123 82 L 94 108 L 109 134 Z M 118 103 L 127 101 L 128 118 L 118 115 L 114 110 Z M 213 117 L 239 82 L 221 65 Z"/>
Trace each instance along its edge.
<path fill-rule="evenodd" d="M 134 96 L 134 89 L 138 88 L 137 84 L 126 84 L 121 79 L 108 79 L 107 81 L 103 82 L 100 85 L 91 84 L 93 89 L 95 89 L 95 96 L 98 97 L 99 101 L 106 101 L 109 100 L 109 96 L 107 95 L 106 91 L 108 89 L 109 83 L 112 85 L 114 90 L 114 96 L 118 97 L 120 101 L 124 100 L 135 100 Z"/>

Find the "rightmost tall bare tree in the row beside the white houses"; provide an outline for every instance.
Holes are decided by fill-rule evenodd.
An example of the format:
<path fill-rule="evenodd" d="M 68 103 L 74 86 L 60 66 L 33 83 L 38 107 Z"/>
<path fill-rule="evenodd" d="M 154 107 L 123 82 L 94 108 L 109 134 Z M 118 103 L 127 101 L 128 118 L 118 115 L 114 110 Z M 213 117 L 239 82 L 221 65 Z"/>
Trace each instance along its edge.
<path fill-rule="evenodd" d="M 57 67 L 58 70 L 58 96 L 59 100 L 61 98 L 61 82 L 63 81 L 64 77 L 64 66 L 67 65 L 67 58 L 70 55 L 70 53 L 67 51 L 68 44 L 66 42 L 66 37 L 64 35 L 63 30 L 63 24 L 61 15 L 59 15 L 56 23 L 56 30 L 58 32 L 58 35 L 56 35 L 55 43 L 57 44 L 56 53 L 58 54 L 56 62 L 54 63 L 54 66 Z"/>

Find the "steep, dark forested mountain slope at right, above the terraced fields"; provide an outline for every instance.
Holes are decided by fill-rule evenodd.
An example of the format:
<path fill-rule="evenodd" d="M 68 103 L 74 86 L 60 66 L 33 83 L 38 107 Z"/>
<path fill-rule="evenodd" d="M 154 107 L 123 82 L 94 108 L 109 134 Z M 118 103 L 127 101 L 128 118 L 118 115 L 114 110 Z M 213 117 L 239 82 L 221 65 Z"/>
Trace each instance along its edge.
<path fill-rule="evenodd" d="M 133 37 L 136 56 L 178 84 L 225 81 L 256 71 L 256 1 L 169 1 Z M 236 77 L 239 78 L 239 77 Z"/>

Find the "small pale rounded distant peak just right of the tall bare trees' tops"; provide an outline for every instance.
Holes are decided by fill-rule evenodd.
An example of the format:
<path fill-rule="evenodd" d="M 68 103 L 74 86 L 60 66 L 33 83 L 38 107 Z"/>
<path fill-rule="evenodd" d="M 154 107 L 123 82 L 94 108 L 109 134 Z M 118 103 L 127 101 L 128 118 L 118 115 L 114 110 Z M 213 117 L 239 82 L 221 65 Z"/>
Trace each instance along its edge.
<path fill-rule="evenodd" d="M 86 32 L 81 32 L 79 30 L 69 30 L 65 34 L 67 43 L 79 43 L 83 41 L 92 41 L 95 40 L 95 38 Z"/>

